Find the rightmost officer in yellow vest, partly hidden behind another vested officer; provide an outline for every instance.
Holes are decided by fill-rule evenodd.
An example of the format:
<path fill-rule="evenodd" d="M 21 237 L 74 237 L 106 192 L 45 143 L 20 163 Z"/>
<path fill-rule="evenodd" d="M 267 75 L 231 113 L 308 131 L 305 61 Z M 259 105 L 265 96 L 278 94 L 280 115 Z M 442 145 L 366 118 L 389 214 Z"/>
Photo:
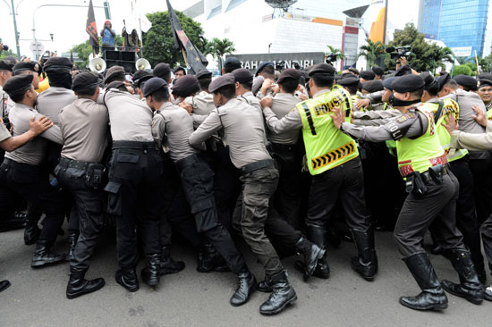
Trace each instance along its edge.
<path fill-rule="evenodd" d="M 437 135 L 441 146 L 445 149 L 447 162 L 451 172 L 460 183 L 460 193 L 456 201 L 456 227 L 463 234 L 463 243 L 470 249 L 471 260 L 475 264 L 479 281 L 487 281 L 485 264 L 481 252 L 480 225 L 475 214 L 475 201 L 473 199 L 473 175 L 470 170 L 468 151 L 451 147 L 451 135 L 443 126 L 445 119 L 454 116 L 459 120 L 460 106 L 450 98 L 437 98 L 439 83 L 428 71 L 422 72 L 420 77 L 425 80 L 424 93 L 422 95 L 422 105 L 420 108 L 427 110 L 436 123 Z M 433 224 L 430 231 L 439 228 Z M 440 247 L 440 246 L 439 246 Z M 441 247 L 442 248 L 442 247 Z"/>

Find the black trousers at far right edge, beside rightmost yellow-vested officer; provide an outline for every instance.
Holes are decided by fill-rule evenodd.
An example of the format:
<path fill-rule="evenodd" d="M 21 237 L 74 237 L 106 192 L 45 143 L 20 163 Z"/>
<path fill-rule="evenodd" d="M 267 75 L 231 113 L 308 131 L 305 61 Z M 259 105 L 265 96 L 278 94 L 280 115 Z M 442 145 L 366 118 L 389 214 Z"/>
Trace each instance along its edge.
<path fill-rule="evenodd" d="M 492 155 L 487 159 L 471 159 L 470 170 L 473 175 L 475 207 L 479 223 L 485 222 L 492 214 Z"/>

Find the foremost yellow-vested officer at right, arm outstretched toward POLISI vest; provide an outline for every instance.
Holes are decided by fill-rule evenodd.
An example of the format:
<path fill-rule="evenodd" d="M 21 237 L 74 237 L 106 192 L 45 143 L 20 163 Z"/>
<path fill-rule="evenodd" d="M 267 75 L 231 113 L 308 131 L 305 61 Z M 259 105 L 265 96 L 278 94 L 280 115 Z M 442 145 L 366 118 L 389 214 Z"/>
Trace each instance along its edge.
<path fill-rule="evenodd" d="M 436 125 L 430 113 L 415 107 L 420 103 L 425 82 L 417 75 L 399 77 L 392 83 L 394 108 L 401 115 L 382 126 L 361 127 L 345 122 L 344 113 L 335 110 L 337 128 L 354 138 L 370 141 L 395 139 L 398 166 L 409 195 L 394 228 L 403 261 L 422 289 L 416 297 L 402 297 L 403 306 L 416 310 L 442 310 L 447 307 L 445 290 L 479 305 L 483 289 L 464 247 L 462 234 L 456 229 L 455 209 L 459 184 L 449 171 L 445 150 L 441 147 Z M 422 239 L 429 225 L 438 222 L 438 242 L 448 251 L 460 284 L 437 280 Z M 442 287 L 441 287 L 442 285 Z"/>

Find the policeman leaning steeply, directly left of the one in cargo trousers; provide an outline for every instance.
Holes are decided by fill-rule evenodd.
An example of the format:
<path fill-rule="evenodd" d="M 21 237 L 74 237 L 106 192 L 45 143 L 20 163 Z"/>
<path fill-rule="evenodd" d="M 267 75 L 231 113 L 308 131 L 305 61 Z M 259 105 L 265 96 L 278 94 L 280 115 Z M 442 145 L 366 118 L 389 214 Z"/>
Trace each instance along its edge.
<path fill-rule="evenodd" d="M 177 82 L 181 83 L 188 76 L 194 78 L 187 75 Z M 182 89 L 178 89 L 177 93 L 181 96 Z M 197 230 L 202 232 L 225 257 L 226 263 L 239 277 L 239 287 L 231 298 L 231 304 L 241 306 L 250 298 L 256 280 L 235 247 L 231 235 L 217 220 L 213 193 L 214 173 L 198 151 L 188 143 L 188 138 L 193 132 L 193 119 L 182 108 L 168 101 L 169 91 L 165 80 L 159 78 L 148 80 L 144 88 L 144 96 L 148 106 L 156 111 L 152 134 L 159 146 L 165 143 L 169 148 L 169 155 L 180 173 L 182 190 L 191 206 Z"/>

